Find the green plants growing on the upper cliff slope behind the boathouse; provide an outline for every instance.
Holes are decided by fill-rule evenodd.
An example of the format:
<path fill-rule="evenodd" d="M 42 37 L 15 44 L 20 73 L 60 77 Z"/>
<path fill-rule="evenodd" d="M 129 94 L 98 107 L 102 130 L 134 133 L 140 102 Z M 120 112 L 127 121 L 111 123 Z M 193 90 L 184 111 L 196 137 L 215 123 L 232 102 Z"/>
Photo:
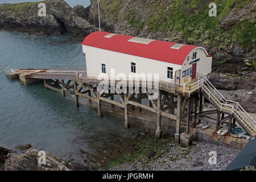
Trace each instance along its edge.
<path fill-rule="evenodd" d="M 211 2 L 217 5 L 216 17 L 208 15 L 210 10 L 208 6 Z M 231 30 L 225 30 L 222 27 L 225 15 L 230 10 L 237 7 L 238 11 L 250 2 L 250 0 L 191 0 L 180 3 L 179 0 L 173 0 L 168 2 L 167 6 L 167 1 L 166 3 L 141 1 L 138 6 L 147 7 L 147 14 L 143 15 L 137 9 L 130 7 L 131 9 L 125 10 L 124 18 L 131 26 L 137 28 L 137 31 L 144 27 L 147 27 L 147 30 L 151 32 L 162 31 L 168 34 L 172 34 L 173 30 L 180 31 L 188 44 L 204 43 L 206 48 L 225 49 L 230 47 L 232 43 L 239 43 L 245 49 L 252 49 L 255 47 L 255 22 L 244 19 Z M 116 14 L 119 14 L 119 10 L 121 10 L 121 6 L 118 5 L 119 0 L 110 2 L 108 6 L 115 7 L 111 13 L 108 13 L 110 17 L 117 18 Z M 107 9 L 109 10 L 109 8 Z"/>

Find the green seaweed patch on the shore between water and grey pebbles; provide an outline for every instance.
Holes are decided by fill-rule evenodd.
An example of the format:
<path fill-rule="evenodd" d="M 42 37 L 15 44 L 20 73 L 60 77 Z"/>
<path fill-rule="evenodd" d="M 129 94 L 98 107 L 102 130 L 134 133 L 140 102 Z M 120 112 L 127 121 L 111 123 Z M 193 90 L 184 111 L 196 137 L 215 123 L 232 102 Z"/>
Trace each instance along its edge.
<path fill-rule="evenodd" d="M 168 152 L 167 145 L 173 140 L 170 137 L 163 136 L 160 139 L 156 139 L 154 135 L 146 134 L 143 138 L 139 139 L 139 144 L 141 148 L 139 148 L 137 151 L 135 151 L 133 154 L 126 154 L 122 155 L 117 160 L 110 162 L 106 165 L 106 168 L 112 168 L 114 166 L 119 166 L 123 163 L 133 163 L 135 159 L 138 159 L 139 157 L 146 157 L 148 155 L 148 152 L 151 150 L 154 150 L 156 152 L 155 156 L 152 157 L 152 160 L 156 160 L 160 158 L 160 156 L 166 154 Z M 164 160 L 162 163 L 165 163 Z"/>

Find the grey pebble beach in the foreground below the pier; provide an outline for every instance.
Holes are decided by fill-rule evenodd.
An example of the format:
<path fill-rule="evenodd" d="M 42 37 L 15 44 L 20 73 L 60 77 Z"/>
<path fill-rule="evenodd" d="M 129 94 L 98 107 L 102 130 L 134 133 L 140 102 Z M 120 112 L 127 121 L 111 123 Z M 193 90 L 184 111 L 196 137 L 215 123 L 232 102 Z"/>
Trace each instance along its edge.
<path fill-rule="evenodd" d="M 110 170 L 204 170 L 204 171 L 222 171 L 232 162 L 240 152 L 238 149 L 218 146 L 212 143 L 193 142 L 191 147 L 181 147 L 174 144 L 174 140 L 166 145 L 167 152 L 158 151 L 154 156 L 139 156 L 131 163 L 123 163 L 119 166 L 110 168 Z M 216 164 L 209 164 L 209 152 L 216 151 Z M 164 153 L 157 158 L 157 155 Z M 153 152 L 154 154 L 154 152 Z"/>

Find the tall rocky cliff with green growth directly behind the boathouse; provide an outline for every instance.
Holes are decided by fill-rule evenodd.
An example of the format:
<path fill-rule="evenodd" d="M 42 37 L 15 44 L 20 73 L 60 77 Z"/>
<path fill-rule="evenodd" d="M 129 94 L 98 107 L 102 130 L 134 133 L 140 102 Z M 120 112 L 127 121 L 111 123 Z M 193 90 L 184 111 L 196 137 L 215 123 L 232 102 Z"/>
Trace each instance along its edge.
<path fill-rule="evenodd" d="M 256 2 L 220 0 L 210 17 L 210 0 L 101 0 L 101 27 L 106 31 L 205 47 L 213 71 L 255 71 Z M 98 4 L 91 0 L 88 19 L 98 26 Z M 243 70 L 241 69 L 243 68 Z"/>

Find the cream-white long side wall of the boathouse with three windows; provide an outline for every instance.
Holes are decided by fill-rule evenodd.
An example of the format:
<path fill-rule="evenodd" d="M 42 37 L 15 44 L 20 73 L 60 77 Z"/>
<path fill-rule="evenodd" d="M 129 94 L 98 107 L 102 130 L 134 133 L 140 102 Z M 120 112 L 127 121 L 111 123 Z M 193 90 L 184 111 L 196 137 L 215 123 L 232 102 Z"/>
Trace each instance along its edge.
<path fill-rule="evenodd" d="M 86 56 L 86 69 L 88 76 L 97 76 L 101 72 L 101 64 L 106 65 L 106 74 L 110 76 L 110 69 L 115 69 L 115 75 L 118 73 L 125 73 L 126 76 L 131 73 L 131 62 L 136 64 L 136 73 L 159 73 L 159 78 L 169 80 L 167 78 L 167 67 L 173 68 L 173 80 L 175 78 L 175 71 L 181 69 L 181 65 L 166 63 L 127 55 L 106 49 L 100 49 L 90 46 L 82 46 L 82 50 Z"/>

